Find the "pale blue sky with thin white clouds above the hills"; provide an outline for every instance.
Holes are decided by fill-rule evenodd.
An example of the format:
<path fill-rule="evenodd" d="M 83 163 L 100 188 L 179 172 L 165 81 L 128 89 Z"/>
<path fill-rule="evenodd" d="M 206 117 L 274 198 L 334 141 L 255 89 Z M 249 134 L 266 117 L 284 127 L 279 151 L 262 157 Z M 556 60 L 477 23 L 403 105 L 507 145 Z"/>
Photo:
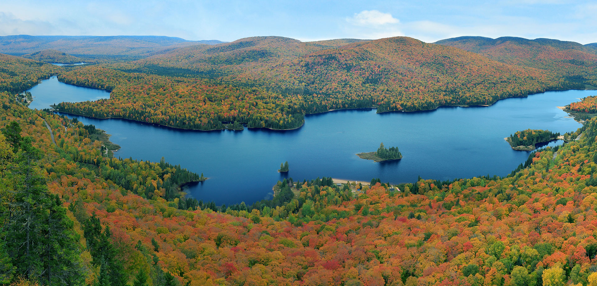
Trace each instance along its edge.
<path fill-rule="evenodd" d="M 234 41 L 410 36 L 597 42 L 597 1 L 0 0 L 0 35 L 161 35 Z"/>

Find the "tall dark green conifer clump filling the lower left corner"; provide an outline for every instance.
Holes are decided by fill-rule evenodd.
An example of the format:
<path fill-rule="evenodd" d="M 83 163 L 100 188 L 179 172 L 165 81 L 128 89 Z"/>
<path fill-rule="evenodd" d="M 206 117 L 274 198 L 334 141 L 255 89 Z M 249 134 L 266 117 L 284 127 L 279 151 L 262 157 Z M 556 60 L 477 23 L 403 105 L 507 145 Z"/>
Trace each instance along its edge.
<path fill-rule="evenodd" d="M 10 130 L 19 127 L 13 124 Z M 73 222 L 60 199 L 48 192 L 37 165 L 39 150 L 29 137 L 18 140 L 14 160 L 0 168 L 1 189 L 7 190 L 0 193 L 0 279 L 15 273 L 45 285 L 81 285 Z M 3 138 L 0 141 L 6 146 Z"/>

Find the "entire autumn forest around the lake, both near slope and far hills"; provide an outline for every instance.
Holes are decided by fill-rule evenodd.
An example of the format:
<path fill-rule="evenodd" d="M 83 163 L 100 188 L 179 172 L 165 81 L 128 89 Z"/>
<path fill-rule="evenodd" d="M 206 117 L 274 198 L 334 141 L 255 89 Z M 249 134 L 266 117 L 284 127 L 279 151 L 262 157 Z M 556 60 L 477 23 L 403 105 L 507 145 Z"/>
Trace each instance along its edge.
<path fill-rule="evenodd" d="M 2 49 L 13 52 L 0 54 L 0 285 L 597 286 L 595 96 L 562 107 L 581 128 L 507 176 L 284 178 L 272 198 L 233 205 L 183 192 L 210 170 L 119 158 L 118 142 L 63 115 L 203 132 L 296 129 L 334 109 L 491 105 L 596 89 L 592 46 L 402 36 L 10 41 Z M 27 107 L 35 98 L 23 92 L 52 75 L 110 98 Z M 506 140 L 533 150 L 559 136 L 528 129 Z M 398 147 L 370 153 L 383 159 L 376 164 L 396 161 Z M 278 171 L 288 173 L 288 161 Z"/>

